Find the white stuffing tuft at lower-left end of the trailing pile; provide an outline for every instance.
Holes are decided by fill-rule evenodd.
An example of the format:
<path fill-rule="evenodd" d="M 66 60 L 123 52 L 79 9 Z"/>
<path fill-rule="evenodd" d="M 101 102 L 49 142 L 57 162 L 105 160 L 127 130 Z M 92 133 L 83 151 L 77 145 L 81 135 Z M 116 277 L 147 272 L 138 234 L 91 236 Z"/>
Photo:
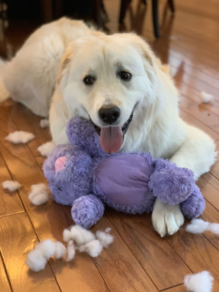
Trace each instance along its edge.
<path fill-rule="evenodd" d="M 33 249 L 27 255 L 26 265 L 34 272 L 43 270 L 46 266 L 47 258 L 37 248 Z"/>

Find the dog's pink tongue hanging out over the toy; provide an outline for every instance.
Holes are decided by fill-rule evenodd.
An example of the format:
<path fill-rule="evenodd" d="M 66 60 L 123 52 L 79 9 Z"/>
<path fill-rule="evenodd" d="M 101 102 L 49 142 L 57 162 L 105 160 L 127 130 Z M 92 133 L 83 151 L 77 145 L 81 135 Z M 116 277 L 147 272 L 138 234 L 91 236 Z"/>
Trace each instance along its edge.
<path fill-rule="evenodd" d="M 117 152 L 123 141 L 122 127 L 100 128 L 100 146 L 107 153 Z"/>

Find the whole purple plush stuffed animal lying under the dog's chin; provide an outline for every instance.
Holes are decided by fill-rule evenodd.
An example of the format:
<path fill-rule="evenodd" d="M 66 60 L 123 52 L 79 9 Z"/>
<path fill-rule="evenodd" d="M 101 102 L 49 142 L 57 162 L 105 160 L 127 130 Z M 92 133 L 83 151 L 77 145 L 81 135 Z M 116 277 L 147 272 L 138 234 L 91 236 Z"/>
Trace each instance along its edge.
<path fill-rule="evenodd" d="M 72 206 L 75 224 L 91 227 L 105 205 L 130 214 L 149 213 L 156 197 L 180 204 L 187 218 L 204 210 L 192 171 L 145 152 L 107 154 L 92 124 L 82 118 L 70 120 L 66 132 L 71 145 L 56 146 L 43 171 L 52 198 Z"/>

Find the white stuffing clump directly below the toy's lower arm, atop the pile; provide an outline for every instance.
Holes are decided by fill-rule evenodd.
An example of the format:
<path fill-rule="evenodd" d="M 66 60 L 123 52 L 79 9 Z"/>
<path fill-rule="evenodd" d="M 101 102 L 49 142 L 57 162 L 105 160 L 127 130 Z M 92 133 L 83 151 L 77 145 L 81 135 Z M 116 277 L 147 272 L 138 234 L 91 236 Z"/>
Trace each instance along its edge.
<path fill-rule="evenodd" d="M 65 229 L 63 231 L 63 240 L 74 240 L 78 246 L 86 244 L 87 242 L 95 239 L 95 235 L 81 227 L 80 225 L 72 225 L 70 230 Z"/>

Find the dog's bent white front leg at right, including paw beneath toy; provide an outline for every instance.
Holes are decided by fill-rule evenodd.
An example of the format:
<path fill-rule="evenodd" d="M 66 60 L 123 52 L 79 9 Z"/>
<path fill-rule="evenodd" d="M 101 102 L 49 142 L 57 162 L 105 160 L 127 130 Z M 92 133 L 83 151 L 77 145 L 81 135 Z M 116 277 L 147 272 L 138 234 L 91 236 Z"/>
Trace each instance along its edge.
<path fill-rule="evenodd" d="M 179 167 L 191 169 L 197 180 L 200 175 L 209 171 L 214 163 L 215 144 L 203 131 L 190 125 L 186 125 L 186 129 L 185 141 L 170 160 Z M 152 212 L 152 223 L 161 237 L 164 237 L 165 234 L 174 234 L 184 223 L 180 206 L 171 206 L 156 199 Z"/>

